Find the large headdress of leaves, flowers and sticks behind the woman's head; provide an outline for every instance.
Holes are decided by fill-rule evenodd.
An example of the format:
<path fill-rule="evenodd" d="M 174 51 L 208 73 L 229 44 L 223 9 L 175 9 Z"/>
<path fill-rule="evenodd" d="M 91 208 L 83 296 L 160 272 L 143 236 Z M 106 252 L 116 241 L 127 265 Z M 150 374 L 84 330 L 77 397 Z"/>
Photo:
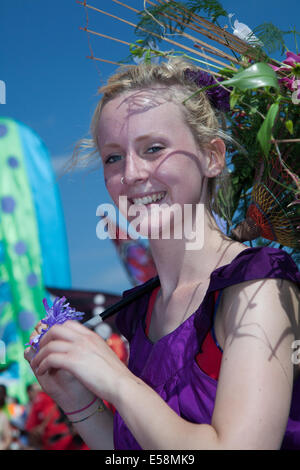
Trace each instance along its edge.
<path fill-rule="evenodd" d="M 88 29 L 88 9 L 112 15 L 86 2 L 82 5 L 87 18 L 82 29 L 89 39 L 93 34 L 107 38 Z M 260 236 L 259 244 L 276 242 L 299 254 L 300 56 L 288 51 L 280 62 L 269 55 L 283 54 L 283 36 L 296 31 L 283 32 L 270 23 L 252 31 L 238 20 L 232 26 L 233 14 L 218 0 L 147 0 L 143 11 L 125 2 L 122 6 L 140 17 L 134 24 L 114 15 L 115 20 L 134 25 L 139 36 L 135 44 L 110 36 L 129 46 L 131 55 L 125 62 L 139 58 L 150 63 L 178 55 L 196 62 L 198 71 L 187 69 L 186 77 L 206 92 L 216 109 L 226 112 L 229 133 L 247 150 L 245 157 L 236 148 L 229 149 L 230 197 L 222 190 L 218 194 L 220 205 L 229 207 L 229 214 L 224 212 L 228 235 L 241 241 Z M 226 20 L 223 27 L 221 18 Z M 173 50 L 159 50 L 157 42 L 171 44 Z M 94 60 L 122 63 L 91 52 Z"/>

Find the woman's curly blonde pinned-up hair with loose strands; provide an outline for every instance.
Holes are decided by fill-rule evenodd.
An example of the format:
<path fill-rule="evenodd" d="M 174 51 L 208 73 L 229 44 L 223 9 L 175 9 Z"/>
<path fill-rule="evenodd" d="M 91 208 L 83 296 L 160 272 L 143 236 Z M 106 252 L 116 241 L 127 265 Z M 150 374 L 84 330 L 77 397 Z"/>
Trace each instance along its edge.
<path fill-rule="evenodd" d="M 102 94 L 91 122 L 92 139 L 82 139 L 76 146 L 72 165 L 80 162 L 90 162 L 94 156 L 99 158 L 98 149 L 98 123 L 103 107 L 117 96 L 133 91 L 152 88 L 157 85 L 165 86 L 168 91 L 173 91 L 172 100 L 181 104 L 183 118 L 191 129 L 194 138 L 200 148 L 209 146 L 215 137 L 221 137 L 225 142 L 233 143 L 224 128 L 225 118 L 222 113 L 212 108 L 205 92 L 199 92 L 199 87 L 185 77 L 185 70 L 199 70 L 190 61 L 182 58 L 171 58 L 160 64 L 142 63 L 134 66 L 123 66 L 112 75 L 107 84 L 99 89 Z M 160 91 L 158 90 L 158 93 Z M 196 93 L 198 92 L 198 93 Z M 78 158 L 82 150 L 89 150 L 83 158 Z M 225 166 L 220 175 L 208 180 L 208 199 L 210 212 L 216 212 L 229 221 L 228 204 L 221 205 L 217 202 L 217 194 L 223 188 L 223 196 L 230 195 L 229 172 Z M 227 207 L 226 207 L 227 206 Z"/>

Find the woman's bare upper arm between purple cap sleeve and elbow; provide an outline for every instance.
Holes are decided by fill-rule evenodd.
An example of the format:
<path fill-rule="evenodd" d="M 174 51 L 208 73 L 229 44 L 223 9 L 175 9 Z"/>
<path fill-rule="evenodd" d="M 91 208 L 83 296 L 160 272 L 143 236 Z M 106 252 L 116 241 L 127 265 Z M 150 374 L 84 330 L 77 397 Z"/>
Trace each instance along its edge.
<path fill-rule="evenodd" d="M 212 424 L 225 444 L 279 449 L 293 389 L 299 289 L 282 279 L 250 281 L 228 288 L 224 300 L 225 345 Z"/>

